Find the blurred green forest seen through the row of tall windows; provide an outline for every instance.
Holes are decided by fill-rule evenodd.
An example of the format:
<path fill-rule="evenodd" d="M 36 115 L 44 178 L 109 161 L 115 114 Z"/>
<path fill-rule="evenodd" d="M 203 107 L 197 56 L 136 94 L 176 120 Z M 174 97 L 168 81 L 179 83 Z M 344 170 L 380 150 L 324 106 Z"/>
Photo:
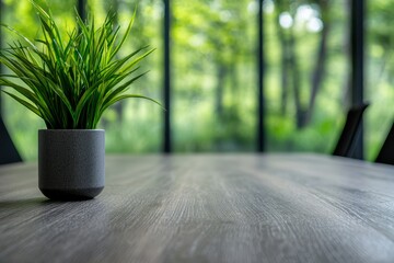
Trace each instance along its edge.
<path fill-rule="evenodd" d="M 76 0 L 49 5 L 65 28 L 74 25 Z M 89 0 L 102 22 L 117 10 L 126 30 L 137 20 L 124 54 L 149 44 L 150 72 L 131 88 L 162 101 L 163 2 Z M 349 107 L 349 0 L 265 0 L 265 128 L 267 151 L 331 152 Z M 366 158 L 374 159 L 394 117 L 394 0 L 367 2 Z M 257 106 L 256 0 L 172 0 L 172 134 L 175 152 L 254 151 Z M 35 38 L 38 21 L 28 0 L 3 0 L 5 24 Z M 2 31 L 3 45 L 13 38 Z M 3 118 L 25 160 L 37 158 L 44 123 L 2 94 Z M 103 117 L 106 151 L 147 153 L 162 147 L 163 112 L 129 100 Z"/>

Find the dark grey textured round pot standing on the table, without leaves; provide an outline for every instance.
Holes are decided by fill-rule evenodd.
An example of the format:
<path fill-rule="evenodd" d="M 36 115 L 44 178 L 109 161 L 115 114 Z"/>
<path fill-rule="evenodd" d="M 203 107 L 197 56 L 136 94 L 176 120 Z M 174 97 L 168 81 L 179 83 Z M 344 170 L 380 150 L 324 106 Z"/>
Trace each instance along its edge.
<path fill-rule="evenodd" d="M 90 199 L 104 188 L 105 130 L 38 130 L 38 187 L 50 199 Z"/>

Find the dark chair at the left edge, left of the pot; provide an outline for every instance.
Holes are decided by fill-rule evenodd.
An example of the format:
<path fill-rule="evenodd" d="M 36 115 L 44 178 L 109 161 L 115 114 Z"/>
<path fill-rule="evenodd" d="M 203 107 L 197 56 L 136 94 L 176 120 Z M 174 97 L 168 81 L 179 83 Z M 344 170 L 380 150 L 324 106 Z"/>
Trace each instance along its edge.
<path fill-rule="evenodd" d="M 21 162 L 22 158 L 11 140 L 5 124 L 0 116 L 0 164 Z"/>

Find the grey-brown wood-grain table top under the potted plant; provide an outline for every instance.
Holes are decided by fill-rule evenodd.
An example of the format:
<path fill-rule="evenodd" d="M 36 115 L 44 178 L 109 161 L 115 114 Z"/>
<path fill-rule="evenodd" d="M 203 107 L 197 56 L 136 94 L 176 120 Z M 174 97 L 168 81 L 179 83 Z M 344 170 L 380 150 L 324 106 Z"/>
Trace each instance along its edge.
<path fill-rule="evenodd" d="M 108 157 L 51 202 L 0 168 L 0 262 L 394 262 L 394 167 L 316 155 Z"/>

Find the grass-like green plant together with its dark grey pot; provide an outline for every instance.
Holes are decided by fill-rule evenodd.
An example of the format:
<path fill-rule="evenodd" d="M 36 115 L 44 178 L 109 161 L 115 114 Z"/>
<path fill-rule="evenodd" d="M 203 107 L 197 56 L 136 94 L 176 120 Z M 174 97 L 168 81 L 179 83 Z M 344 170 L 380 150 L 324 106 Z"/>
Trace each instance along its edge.
<path fill-rule="evenodd" d="M 42 35 L 22 38 L 0 52 L 0 62 L 13 73 L 0 76 L 2 90 L 44 119 L 47 129 L 38 130 L 38 186 L 54 199 L 86 199 L 104 187 L 104 130 L 96 129 L 103 112 L 114 103 L 138 98 L 125 93 L 144 73 L 139 62 L 152 49 L 142 47 L 118 58 L 129 35 L 135 15 L 123 36 L 109 12 L 96 27 L 82 21 L 65 34 L 50 12 L 32 1 Z M 136 14 L 136 13 L 135 13 Z M 65 37 L 67 35 L 67 37 Z"/>

